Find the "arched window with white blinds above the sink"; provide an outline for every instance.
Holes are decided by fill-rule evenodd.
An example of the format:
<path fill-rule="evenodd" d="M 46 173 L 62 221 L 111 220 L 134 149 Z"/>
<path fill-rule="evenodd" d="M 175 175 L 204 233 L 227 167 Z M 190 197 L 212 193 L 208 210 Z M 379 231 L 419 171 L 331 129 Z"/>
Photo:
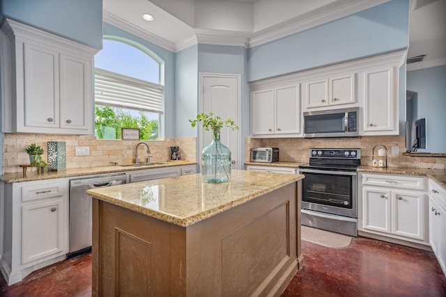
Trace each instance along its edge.
<path fill-rule="evenodd" d="M 139 129 L 141 140 L 159 138 L 163 86 L 161 63 L 153 56 L 133 42 L 103 40 L 95 56 L 98 139 L 121 139 L 121 128 Z"/>

